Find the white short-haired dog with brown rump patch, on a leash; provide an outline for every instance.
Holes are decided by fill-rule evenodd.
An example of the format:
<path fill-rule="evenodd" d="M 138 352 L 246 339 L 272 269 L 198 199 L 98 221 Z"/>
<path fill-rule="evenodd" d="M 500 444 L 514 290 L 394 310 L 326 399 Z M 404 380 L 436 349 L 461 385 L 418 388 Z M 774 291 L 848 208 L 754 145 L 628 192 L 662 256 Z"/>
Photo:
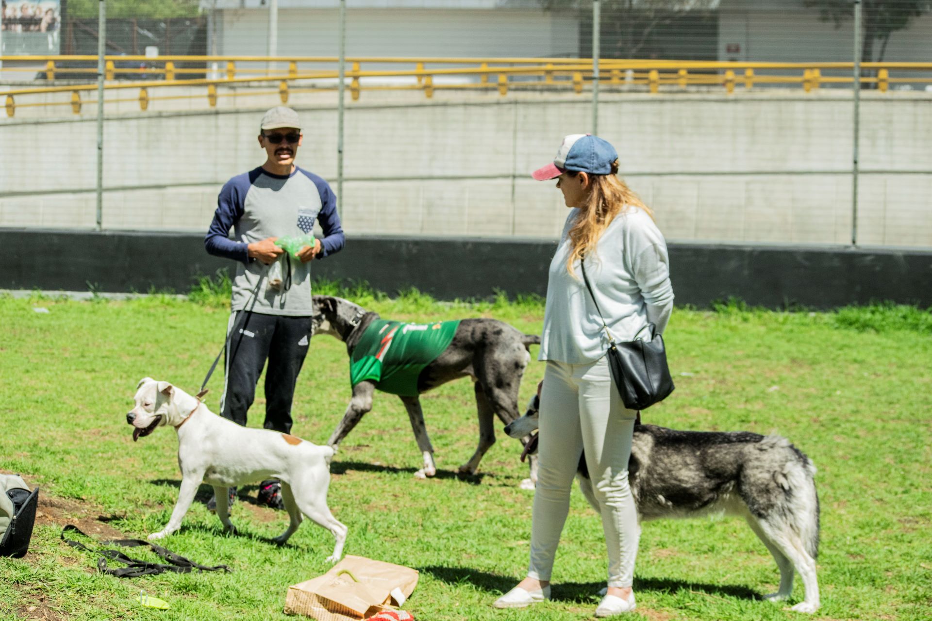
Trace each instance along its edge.
<path fill-rule="evenodd" d="M 201 481 L 213 486 L 217 517 L 227 531 L 236 533 L 229 520 L 226 489 L 256 480 L 281 479 L 281 498 L 291 523 L 275 542 L 284 544 L 304 514 L 334 534 L 336 546 L 327 560 L 340 559 L 348 529 L 327 507 L 333 449 L 277 431 L 237 425 L 208 410 L 199 398 L 151 377 L 139 381 L 135 401 L 126 415 L 127 423 L 133 426 L 133 441 L 162 425 L 171 425 L 178 432 L 181 493 L 169 523 L 149 539 L 161 539 L 181 527 Z"/>

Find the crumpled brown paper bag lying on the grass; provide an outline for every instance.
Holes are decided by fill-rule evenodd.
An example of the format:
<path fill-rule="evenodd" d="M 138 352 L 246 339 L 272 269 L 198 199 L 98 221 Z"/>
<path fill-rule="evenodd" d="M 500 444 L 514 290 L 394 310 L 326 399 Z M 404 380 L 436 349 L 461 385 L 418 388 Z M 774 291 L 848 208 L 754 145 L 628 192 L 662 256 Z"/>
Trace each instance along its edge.
<path fill-rule="evenodd" d="M 285 614 L 318 621 L 358 621 L 404 603 L 418 570 L 347 555 L 326 574 L 288 587 Z"/>

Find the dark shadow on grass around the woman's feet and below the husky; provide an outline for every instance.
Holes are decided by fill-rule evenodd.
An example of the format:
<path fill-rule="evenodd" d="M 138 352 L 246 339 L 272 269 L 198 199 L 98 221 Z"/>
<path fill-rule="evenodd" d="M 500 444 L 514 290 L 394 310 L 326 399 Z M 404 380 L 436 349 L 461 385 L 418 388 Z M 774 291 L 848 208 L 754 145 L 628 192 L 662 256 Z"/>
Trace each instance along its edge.
<path fill-rule="evenodd" d="M 429 565 L 417 568 L 450 585 L 468 583 L 473 587 L 498 595 L 516 584 L 514 575 L 489 574 L 469 567 L 440 567 Z M 555 601 L 577 601 L 590 603 L 598 600 L 597 592 L 605 587 L 604 582 L 561 582 L 552 587 L 551 597 Z M 750 588 L 735 585 L 706 585 L 675 578 L 635 578 L 635 592 L 660 591 L 675 594 L 679 591 L 706 593 L 738 600 L 761 600 L 761 595 Z"/>

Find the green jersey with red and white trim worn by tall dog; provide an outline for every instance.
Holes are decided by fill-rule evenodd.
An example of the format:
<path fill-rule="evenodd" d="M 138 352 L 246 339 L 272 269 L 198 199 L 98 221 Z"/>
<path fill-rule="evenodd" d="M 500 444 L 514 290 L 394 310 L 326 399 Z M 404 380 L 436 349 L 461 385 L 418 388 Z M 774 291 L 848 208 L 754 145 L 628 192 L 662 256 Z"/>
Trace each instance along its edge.
<path fill-rule="evenodd" d="M 404 323 L 377 319 L 349 358 L 349 383 L 372 380 L 392 395 L 418 396 L 418 375 L 453 341 L 459 321 Z"/>

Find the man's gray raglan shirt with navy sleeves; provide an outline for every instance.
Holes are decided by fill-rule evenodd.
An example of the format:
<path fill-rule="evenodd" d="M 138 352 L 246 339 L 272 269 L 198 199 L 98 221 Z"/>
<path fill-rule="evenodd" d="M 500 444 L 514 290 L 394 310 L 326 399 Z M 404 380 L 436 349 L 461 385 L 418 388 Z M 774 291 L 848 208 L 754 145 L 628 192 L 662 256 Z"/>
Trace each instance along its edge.
<path fill-rule="evenodd" d="M 341 250 L 345 239 L 336 213 L 336 196 L 330 185 L 317 175 L 295 167 L 290 175 L 275 175 L 262 167 L 226 182 L 217 197 L 217 210 L 204 237 L 210 254 L 238 262 L 233 278 L 231 308 L 242 310 L 253 290 L 263 280 L 250 307 L 256 313 L 292 317 L 312 314 L 310 265 L 291 258 L 291 287 L 277 290 L 267 286 L 269 266 L 249 258 L 249 244 L 267 237 L 303 236 L 312 232 L 319 220 L 323 230 L 318 258 Z M 230 229 L 234 236 L 229 238 Z M 284 255 L 282 274 L 287 279 Z"/>

